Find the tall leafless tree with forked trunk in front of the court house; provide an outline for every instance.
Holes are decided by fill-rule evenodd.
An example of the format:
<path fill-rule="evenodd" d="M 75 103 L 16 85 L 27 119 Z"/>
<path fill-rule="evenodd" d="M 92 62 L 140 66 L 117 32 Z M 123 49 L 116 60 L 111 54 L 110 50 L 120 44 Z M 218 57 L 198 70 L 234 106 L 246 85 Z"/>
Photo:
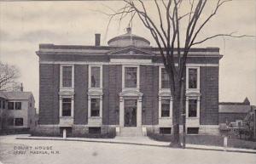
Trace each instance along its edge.
<path fill-rule="evenodd" d="M 154 8 L 147 8 L 145 1 L 123 0 L 125 5 L 113 11 L 110 16 L 109 23 L 113 17 L 119 17 L 123 20 L 128 14 L 131 19 L 137 15 L 143 22 L 143 25 L 150 31 L 154 41 L 156 42 L 166 71 L 170 77 L 171 93 L 173 99 L 172 125 L 173 139 L 171 146 L 181 147 L 179 139 L 179 118 L 180 111 L 183 112 L 183 126 L 185 125 L 185 84 L 184 77 L 186 74 L 186 62 L 189 49 L 197 44 L 206 42 L 214 37 L 251 37 L 236 36 L 235 32 L 229 34 L 216 34 L 210 37 L 197 40 L 202 29 L 212 20 L 218 9 L 224 3 L 231 0 L 216 0 L 212 13 L 207 17 L 202 16 L 206 12 L 207 0 L 154 0 Z M 152 7 L 152 6 L 151 6 Z M 185 8 L 186 7 L 186 8 Z M 154 19 L 152 13 L 157 11 L 158 19 Z M 184 12 L 185 11 L 185 12 Z M 151 15 L 150 15 L 151 14 Z M 155 14 L 155 13 L 154 13 Z M 131 20 L 130 20 L 131 21 Z M 108 25 L 109 25 L 108 23 Z M 181 29 L 185 30 L 181 30 Z M 183 127 L 183 133 L 185 128 Z M 183 138 L 183 143 L 185 140 Z"/>

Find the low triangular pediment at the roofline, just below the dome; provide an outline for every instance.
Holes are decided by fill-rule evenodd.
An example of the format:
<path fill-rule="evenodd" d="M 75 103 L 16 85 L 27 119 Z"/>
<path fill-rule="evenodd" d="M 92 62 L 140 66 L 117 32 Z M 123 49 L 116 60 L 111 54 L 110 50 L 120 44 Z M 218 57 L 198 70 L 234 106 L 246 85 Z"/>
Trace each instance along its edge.
<path fill-rule="evenodd" d="M 119 54 L 119 55 L 154 55 L 153 53 L 142 49 L 136 48 L 134 46 L 119 48 L 113 51 L 108 52 L 108 54 Z"/>

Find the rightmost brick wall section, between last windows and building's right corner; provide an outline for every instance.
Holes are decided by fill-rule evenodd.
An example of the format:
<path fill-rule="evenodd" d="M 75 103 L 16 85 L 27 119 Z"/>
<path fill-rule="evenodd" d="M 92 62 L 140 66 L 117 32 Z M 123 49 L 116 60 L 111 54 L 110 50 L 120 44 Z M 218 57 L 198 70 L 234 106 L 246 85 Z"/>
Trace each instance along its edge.
<path fill-rule="evenodd" d="M 218 125 L 218 67 L 201 67 L 202 125 Z"/>

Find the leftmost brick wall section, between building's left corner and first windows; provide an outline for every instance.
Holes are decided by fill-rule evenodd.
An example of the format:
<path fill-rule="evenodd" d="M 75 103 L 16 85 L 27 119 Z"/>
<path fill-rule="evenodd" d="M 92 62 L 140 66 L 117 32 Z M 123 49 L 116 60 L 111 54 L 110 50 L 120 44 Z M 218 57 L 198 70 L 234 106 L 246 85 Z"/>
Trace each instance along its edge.
<path fill-rule="evenodd" d="M 39 65 L 38 124 L 59 123 L 60 65 Z"/>

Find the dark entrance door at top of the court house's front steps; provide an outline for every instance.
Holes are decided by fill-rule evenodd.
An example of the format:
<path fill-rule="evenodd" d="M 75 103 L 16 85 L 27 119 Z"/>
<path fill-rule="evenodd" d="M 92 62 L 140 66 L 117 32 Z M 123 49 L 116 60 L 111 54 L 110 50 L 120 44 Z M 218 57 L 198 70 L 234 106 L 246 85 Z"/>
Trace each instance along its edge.
<path fill-rule="evenodd" d="M 125 99 L 125 127 L 137 127 L 137 99 Z"/>

